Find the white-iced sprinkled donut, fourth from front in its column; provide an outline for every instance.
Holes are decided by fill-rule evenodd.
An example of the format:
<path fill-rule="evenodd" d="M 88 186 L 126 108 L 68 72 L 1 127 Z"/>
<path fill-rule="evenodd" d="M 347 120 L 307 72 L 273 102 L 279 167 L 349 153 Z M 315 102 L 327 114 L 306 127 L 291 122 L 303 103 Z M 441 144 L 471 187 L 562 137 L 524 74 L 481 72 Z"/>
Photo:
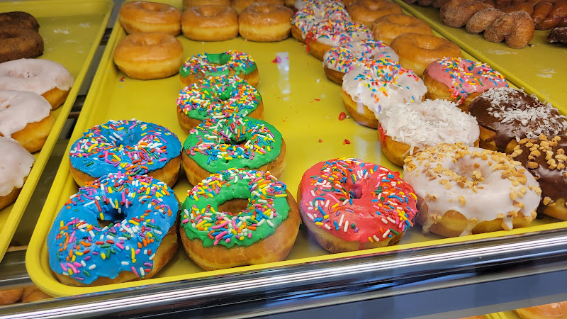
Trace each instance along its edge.
<path fill-rule="evenodd" d="M 339 1 L 327 1 L 307 6 L 291 18 L 291 35 L 301 43 L 305 43 L 307 33 L 316 24 L 326 21 L 350 22 L 349 13 Z"/>

